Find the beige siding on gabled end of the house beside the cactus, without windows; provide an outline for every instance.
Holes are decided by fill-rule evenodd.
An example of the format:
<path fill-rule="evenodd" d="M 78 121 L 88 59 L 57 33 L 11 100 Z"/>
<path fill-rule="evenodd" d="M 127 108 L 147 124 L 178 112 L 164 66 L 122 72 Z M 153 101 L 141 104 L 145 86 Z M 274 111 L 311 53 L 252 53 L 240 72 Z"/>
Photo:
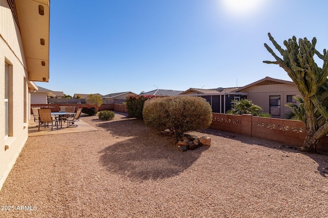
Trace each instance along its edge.
<path fill-rule="evenodd" d="M 275 118 L 285 118 L 285 113 L 290 110 L 287 104 L 287 95 L 300 95 L 296 85 L 291 84 L 268 84 L 255 85 L 240 90 L 248 93 L 248 99 L 252 100 L 255 105 L 260 106 L 264 112 L 270 112 L 270 95 L 280 95 L 280 115 Z"/>

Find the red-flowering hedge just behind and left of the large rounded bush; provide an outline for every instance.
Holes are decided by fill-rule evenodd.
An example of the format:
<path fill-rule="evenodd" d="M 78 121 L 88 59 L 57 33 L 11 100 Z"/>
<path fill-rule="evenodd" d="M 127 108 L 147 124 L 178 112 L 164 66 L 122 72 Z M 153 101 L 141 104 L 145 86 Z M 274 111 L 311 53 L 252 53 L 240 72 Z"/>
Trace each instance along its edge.
<path fill-rule="evenodd" d="M 130 117 L 142 119 L 142 109 L 144 109 L 144 103 L 149 99 L 162 98 L 162 96 L 156 95 L 129 95 L 126 99 L 126 105 L 128 115 Z"/>

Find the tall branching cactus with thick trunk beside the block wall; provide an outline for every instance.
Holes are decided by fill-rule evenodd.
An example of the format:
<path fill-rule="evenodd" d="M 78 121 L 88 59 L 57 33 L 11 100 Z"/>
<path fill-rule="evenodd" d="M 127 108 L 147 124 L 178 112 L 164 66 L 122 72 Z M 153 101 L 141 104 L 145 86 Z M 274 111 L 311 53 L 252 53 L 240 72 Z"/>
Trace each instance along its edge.
<path fill-rule="evenodd" d="M 276 61 L 263 61 L 267 64 L 278 64 L 293 80 L 301 92 L 304 101 L 306 137 L 301 148 L 305 152 L 316 152 L 316 146 L 322 136 L 328 132 L 328 53 L 323 50 L 323 55 L 316 49 L 317 39 L 312 43 L 304 38 L 284 40 L 286 50 L 268 33 L 270 41 L 280 53 L 277 56 L 271 47 L 264 43 L 264 47 Z M 314 61 L 314 55 L 323 60 L 322 68 Z"/>

